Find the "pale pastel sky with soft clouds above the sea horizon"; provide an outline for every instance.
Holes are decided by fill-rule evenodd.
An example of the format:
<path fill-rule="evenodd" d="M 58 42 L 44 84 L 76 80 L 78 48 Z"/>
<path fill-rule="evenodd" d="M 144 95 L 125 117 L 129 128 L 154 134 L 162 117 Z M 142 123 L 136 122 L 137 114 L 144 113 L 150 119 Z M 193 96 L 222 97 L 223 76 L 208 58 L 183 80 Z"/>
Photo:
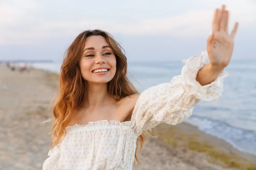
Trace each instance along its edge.
<path fill-rule="evenodd" d="M 185 59 L 205 50 L 222 4 L 230 32 L 239 22 L 233 59 L 256 59 L 256 0 L 0 0 L 0 60 L 62 61 L 81 31 L 96 28 L 128 60 Z"/>

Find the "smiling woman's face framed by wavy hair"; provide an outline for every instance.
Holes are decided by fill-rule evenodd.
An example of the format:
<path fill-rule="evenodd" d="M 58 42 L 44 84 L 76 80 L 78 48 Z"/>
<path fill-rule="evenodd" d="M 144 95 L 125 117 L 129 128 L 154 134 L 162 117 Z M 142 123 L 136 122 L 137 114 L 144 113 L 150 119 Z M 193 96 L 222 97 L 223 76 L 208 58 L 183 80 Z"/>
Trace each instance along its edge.
<path fill-rule="evenodd" d="M 116 57 L 104 37 L 86 38 L 79 66 L 87 82 L 107 83 L 113 79 L 116 74 Z"/>

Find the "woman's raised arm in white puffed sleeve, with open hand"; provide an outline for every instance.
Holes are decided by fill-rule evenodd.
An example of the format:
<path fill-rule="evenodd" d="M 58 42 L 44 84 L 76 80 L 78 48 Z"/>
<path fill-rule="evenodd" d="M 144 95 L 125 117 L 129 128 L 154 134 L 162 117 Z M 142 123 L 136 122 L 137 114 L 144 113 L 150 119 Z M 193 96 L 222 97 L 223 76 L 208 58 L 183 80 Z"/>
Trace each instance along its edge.
<path fill-rule="evenodd" d="M 232 33 L 227 33 L 228 11 L 216 9 L 212 34 L 207 40 L 207 52 L 184 60 L 181 75 L 146 89 L 140 94 L 131 116 L 130 127 L 137 135 L 160 123 L 177 125 L 192 115 L 199 102 L 209 102 L 221 97 L 222 71 L 229 64 L 233 53 L 233 39 L 238 24 Z M 134 102 L 135 103 L 135 102 Z"/>

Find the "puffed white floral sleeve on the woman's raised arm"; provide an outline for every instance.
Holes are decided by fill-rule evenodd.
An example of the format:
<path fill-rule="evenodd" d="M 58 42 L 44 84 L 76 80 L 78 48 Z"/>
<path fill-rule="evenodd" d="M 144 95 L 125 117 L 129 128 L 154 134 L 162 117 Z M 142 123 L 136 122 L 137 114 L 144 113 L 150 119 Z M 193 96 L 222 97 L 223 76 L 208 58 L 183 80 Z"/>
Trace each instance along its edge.
<path fill-rule="evenodd" d="M 196 81 L 198 71 L 209 63 L 207 51 L 184 60 L 181 75 L 146 89 L 140 94 L 132 117 L 131 128 L 140 135 L 143 130 L 151 129 L 160 123 L 176 125 L 189 118 L 193 107 L 200 100 L 209 102 L 221 97 L 223 78 L 221 73 L 208 85 Z"/>

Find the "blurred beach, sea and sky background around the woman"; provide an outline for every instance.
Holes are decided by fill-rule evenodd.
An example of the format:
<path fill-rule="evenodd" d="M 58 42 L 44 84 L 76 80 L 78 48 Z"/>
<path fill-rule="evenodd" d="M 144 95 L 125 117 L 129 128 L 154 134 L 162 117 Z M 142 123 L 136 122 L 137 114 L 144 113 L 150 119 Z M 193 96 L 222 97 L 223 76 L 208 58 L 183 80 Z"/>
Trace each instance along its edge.
<path fill-rule="evenodd" d="M 87 29 L 108 31 L 125 49 L 140 92 L 179 75 L 201 54 L 215 8 L 239 22 L 221 99 L 200 102 L 191 118 L 160 125 L 142 153 L 145 170 L 256 169 L 255 0 L 1 0 L 0 170 L 39 170 L 47 159 L 49 103 L 64 52 Z"/>

